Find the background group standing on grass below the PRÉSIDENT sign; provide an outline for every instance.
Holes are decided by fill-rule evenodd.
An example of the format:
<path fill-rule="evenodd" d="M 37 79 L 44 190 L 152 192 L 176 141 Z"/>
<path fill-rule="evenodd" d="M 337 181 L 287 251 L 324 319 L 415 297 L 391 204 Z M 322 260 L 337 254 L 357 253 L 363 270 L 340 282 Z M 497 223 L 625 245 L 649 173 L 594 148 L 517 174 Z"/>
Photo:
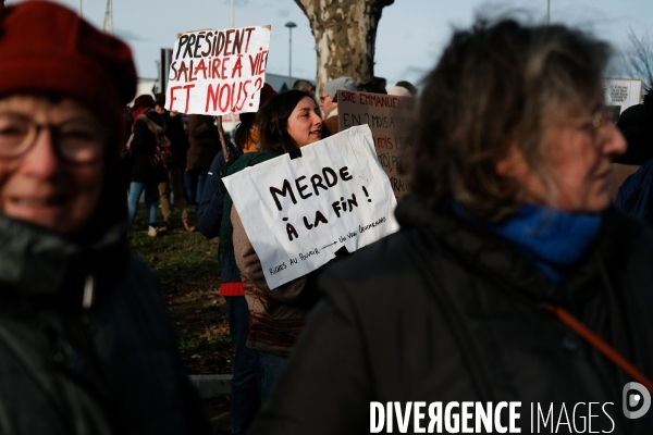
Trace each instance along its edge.
<path fill-rule="evenodd" d="M 123 151 L 128 184 L 128 227 L 134 225 L 138 201 L 144 195 L 148 212 L 148 235 L 156 237 L 172 227 L 172 206 L 180 211 L 187 232 L 194 232 L 188 208 L 197 208 L 209 172 L 220 149 L 212 116 L 190 115 L 186 122 L 165 109 L 162 94 L 138 96 L 126 108 L 132 135 Z M 173 197 L 171 199 L 171 191 Z M 163 215 L 158 221 L 158 206 Z"/>

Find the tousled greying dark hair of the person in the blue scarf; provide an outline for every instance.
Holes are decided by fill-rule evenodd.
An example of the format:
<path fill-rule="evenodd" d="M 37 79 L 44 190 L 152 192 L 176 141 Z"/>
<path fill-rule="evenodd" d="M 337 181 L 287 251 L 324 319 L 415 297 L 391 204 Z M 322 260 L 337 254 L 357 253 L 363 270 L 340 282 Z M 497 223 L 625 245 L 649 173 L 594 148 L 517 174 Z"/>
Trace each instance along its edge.
<path fill-rule="evenodd" d="M 545 133 L 571 114 L 590 114 L 608 58 L 606 44 L 563 25 L 477 20 L 470 30 L 455 32 L 424 79 L 411 190 L 435 209 L 455 199 L 479 217 L 498 220 L 521 206 L 521 186 L 495 172 L 513 147 L 551 187 L 541 164 Z"/>

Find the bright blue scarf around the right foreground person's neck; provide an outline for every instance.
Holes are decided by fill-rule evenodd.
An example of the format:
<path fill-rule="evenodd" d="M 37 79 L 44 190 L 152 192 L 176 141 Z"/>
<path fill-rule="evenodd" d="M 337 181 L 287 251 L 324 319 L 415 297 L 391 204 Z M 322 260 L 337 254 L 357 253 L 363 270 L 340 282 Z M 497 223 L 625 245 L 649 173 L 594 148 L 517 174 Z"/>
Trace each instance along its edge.
<path fill-rule="evenodd" d="M 601 214 L 568 213 L 544 206 L 525 204 L 497 223 L 483 222 L 454 202 L 454 211 L 490 228 L 523 252 L 553 283 L 564 284 L 560 269 L 575 264 L 594 241 Z"/>

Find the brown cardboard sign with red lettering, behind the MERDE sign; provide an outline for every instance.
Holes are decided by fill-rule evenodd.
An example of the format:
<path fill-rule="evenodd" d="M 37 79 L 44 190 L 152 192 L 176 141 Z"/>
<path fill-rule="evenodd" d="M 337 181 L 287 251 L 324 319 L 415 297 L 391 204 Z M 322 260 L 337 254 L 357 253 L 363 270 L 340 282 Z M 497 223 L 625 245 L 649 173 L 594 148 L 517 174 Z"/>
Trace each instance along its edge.
<path fill-rule="evenodd" d="M 370 126 L 379 162 L 397 198 L 408 192 L 407 179 L 399 173 L 399 167 L 412 148 L 406 134 L 412 105 L 412 97 L 337 91 L 340 129 L 362 124 Z"/>

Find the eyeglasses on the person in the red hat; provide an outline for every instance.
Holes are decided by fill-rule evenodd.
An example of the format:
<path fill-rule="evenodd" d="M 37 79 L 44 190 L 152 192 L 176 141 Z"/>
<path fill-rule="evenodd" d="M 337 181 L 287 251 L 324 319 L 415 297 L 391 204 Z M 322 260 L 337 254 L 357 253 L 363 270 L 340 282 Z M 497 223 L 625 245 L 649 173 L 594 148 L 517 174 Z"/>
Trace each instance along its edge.
<path fill-rule="evenodd" d="M 52 135 L 58 156 L 67 163 L 88 164 L 102 158 L 108 136 L 85 121 L 61 125 L 37 124 L 28 116 L 0 113 L 0 159 L 16 159 L 29 151 L 41 129 Z"/>

